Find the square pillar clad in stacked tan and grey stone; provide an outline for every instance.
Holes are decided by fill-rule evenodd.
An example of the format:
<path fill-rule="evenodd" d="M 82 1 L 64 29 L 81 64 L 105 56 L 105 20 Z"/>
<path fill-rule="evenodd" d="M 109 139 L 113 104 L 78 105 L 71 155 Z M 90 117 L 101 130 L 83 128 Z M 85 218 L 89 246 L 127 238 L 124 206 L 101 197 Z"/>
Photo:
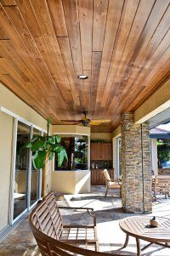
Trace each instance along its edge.
<path fill-rule="evenodd" d="M 151 212 L 150 134 L 147 123 L 122 114 L 122 207 L 128 213 Z"/>

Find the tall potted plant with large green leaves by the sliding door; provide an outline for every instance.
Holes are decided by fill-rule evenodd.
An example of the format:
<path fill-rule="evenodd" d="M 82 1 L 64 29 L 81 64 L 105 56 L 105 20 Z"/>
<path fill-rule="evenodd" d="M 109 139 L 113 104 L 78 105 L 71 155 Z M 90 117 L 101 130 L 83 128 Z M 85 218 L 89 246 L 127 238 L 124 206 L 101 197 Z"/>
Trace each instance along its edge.
<path fill-rule="evenodd" d="M 51 161 L 55 154 L 58 156 L 58 167 L 62 165 L 65 159 L 67 160 L 65 148 L 60 145 L 61 138 L 58 135 L 49 136 L 49 123 L 50 120 L 48 118 L 48 134 L 46 136 L 38 135 L 21 148 L 21 150 L 26 148 L 31 149 L 34 168 L 37 170 L 43 168 L 42 196 L 47 195 L 48 161 Z"/>

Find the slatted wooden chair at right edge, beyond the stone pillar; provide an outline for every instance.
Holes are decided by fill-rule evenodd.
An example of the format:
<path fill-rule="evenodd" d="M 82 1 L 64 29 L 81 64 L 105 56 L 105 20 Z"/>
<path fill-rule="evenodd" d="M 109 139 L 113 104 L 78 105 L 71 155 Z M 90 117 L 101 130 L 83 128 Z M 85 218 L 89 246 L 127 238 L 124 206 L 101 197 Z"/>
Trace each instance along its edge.
<path fill-rule="evenodd" d="M 165 198 L 170 195 L 170 175 L 157 175 L 153 179 L 154 198 L 156 201 L 156 193 L 165 195 Z"/>

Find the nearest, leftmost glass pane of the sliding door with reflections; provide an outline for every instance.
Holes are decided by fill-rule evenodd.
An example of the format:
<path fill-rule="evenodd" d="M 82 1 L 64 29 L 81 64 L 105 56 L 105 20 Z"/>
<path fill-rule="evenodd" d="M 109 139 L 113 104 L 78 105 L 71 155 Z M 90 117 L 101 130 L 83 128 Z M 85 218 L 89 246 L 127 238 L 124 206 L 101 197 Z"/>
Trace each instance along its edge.
<path fill-rule="evenodd" d="M 22 122 L 18 122 L 14 177 L 14 219 L 27 208 L 29 150 L 25 149 L 20 152 L 20 148 L 29 140 L 30 127 Z"/>

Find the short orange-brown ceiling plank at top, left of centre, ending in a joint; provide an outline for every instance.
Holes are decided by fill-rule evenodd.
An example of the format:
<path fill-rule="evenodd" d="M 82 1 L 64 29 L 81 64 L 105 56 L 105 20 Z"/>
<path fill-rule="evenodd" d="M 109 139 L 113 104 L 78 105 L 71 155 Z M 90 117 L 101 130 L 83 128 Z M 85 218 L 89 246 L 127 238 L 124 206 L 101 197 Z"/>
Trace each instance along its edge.
<path fill-rule="evenodd" d="M 68 37 L 62 1 L 47 0 L 47 3 L 56 37 Z"/>

